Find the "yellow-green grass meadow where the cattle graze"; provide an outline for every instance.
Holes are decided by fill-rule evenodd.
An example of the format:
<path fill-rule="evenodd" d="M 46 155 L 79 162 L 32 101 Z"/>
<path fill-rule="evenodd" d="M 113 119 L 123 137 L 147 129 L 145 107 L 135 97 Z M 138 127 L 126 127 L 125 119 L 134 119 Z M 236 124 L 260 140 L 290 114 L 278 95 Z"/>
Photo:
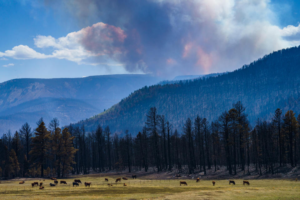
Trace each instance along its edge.
<path fill-rule="evenodd" d="M 24 179 L 24 184 L 17 181 L 2 181 L 0 184 L 0 199 L 300 199 L 300 181 L 265 179 L 248 180 L 250 186 L 243 186 L 242 180 L 235 179 L 235 185 L 229 185 L 227 180 L 217 180 L 212 186 L 212 181 L 184 180 L 188 186 L 179 186 L 179 180 L 121 180 L 116 184 L 115 178 L 107 177 L 109 182 L 103 182 L 104 177 L 74 177 L 72 179 L 59 179 L 67 181 L 67 185 L 58 184 L 57 187 L 49 187 L 51 180 L 28 180 Z M 84 182 L 92 182 L 91 187 L 73 187 L 74 179 Z M 58 182 L 59 182 L 58 180 Z M 33 182 L 45 183 L 45 189 L 39 190 L 31 187 Z M 113 187 L 108 187 L 107 183 L 113 183 Z M 123 186 L 126 183 L 127 186 Z M 25 187 L 25 190 L 24 190 Z M 6 192 L 5 192 L 6 189 Z M 18 189 L 18 191 L 17 191 Z"/>

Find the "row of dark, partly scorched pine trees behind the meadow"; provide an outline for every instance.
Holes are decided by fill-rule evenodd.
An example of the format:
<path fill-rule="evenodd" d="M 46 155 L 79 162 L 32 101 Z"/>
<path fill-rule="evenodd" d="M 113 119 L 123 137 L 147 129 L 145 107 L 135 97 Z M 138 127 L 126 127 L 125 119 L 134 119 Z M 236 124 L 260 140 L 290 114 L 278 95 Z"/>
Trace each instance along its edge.
<path fill-rule="evenodd" d="M 280 109 L 272 119 L 257 119 L 251 127 L 245 107 L 234 103 L 217 120 L 208 122 L 197 115 L 187 118 L 181 130 L 157 108 L 150 108 L 139 133 L 112 133 L 108 126 L 87 132 L 81 127 L 61 131 L 56 118 L 47 128 L 41 118 L 32 131 L 25 123 L 13 135 L 0 140 L 0 173 L 15 176 L 66 176 L 91 173 L 145 170 L 195 173 L 217 171 L 226 166 L 229 174 L 249 167 L 261 175 L 278 173 L 283 166 L 300 164 L 300 114 Z"/>

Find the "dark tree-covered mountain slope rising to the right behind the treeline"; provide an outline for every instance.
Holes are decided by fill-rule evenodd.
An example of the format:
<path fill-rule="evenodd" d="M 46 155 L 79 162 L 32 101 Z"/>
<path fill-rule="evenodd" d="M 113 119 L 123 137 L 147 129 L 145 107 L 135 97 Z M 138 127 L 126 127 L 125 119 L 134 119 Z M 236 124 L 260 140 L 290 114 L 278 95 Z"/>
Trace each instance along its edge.
<path fill-rule="evenodd" d="M 300 108 L 300 46 L 282 49 L 259 58 L 233 72 L 209 78 L 196 78 L 174 84 L 144 87 L 97 116 L 82 120 L 74 126 L 85 125 L 86 130 L 98 124 L 108 125 L 113 132 L 128 129 L 142 130 L 150 107 L 182 130 L 184 121 L 199 114 L 210 122 L 232 103 L 241 101 L 248 119 L 270 119 L 277 108 L 283 112 Z"/>

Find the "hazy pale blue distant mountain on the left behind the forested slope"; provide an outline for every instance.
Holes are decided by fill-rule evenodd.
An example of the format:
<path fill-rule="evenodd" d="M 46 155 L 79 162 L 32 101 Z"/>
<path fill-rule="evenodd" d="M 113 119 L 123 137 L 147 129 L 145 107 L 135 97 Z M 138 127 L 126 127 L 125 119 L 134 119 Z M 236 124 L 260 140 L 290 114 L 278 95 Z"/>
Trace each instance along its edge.
<path fill-rule="evenodd" d="M 143 74 L 86 78 L 21 78 L 0 83 L 0 136 L 18 130 L 25 122 L 36 126 L 43 117 L 61 125 L 90 118 L 118 103 L 135 90 L 161 81 Z"/>

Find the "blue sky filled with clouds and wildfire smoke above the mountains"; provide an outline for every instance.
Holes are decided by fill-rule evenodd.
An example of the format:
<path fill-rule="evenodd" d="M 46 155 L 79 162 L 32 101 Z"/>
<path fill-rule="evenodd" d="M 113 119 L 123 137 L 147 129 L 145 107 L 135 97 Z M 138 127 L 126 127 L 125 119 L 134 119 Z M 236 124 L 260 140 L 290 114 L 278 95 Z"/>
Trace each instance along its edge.
<path fill-rule="evenodd" d="M 0 82 L 230 71 L 300 44 L 300 2 L 0 0 Z"/>

